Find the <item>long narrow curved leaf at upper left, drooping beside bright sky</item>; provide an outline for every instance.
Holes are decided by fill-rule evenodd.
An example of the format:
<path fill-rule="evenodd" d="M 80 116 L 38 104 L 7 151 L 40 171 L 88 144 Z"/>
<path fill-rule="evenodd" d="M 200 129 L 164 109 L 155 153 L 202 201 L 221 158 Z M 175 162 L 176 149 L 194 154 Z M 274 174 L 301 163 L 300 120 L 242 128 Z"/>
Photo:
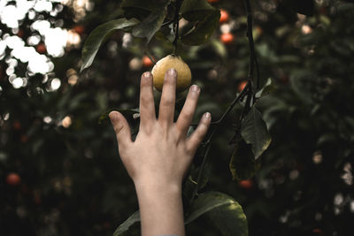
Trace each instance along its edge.
<path fill-rule="evenodd" d="M 106 22 L 103 25 L 96 27 L 91 34 L 89 34 L 88 39 L 83 45 L 82 49 L 82 72 L 85 68 L 88 68 L 95 59 L 97 50 L 104 42 L 104 38 L 107 34 L 111 33 L 112 30 L 122 29 L 125 27 L 135 26 L 139 21 L 137 19 L 114 19 L 112 21 Z"/>

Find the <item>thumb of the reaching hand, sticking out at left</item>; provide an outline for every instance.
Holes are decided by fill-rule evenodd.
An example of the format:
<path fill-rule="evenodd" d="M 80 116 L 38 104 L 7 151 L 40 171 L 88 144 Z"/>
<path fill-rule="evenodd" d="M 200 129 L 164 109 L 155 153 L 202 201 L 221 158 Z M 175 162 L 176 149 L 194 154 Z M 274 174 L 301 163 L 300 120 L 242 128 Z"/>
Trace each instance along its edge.
<path fill-rule="evenodd" d="M 130 127 L 127 124 L 127 119 L 124 118 L 118 111 L 112 111 L 109 116 L 111 118 L 114 132 L 117 136 L 119 148 L 127 147 L 133 142 Z"/>

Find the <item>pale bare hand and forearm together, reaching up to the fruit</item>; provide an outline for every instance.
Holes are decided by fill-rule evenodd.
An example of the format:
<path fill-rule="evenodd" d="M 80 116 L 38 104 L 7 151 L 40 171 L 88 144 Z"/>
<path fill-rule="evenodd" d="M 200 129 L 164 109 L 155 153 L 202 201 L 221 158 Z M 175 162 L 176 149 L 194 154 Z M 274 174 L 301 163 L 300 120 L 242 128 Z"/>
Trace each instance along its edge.
<path fill-rule="evenodd" d="M 141 123 L 135 141 L 132 141 L 126 118 L 118 111 L 110 113 L 119 145 L 119 156 L 135 184 L 142 236 L 185 235 L 182 179 L 212 119 L 211 114 L 206 112 L 194 133 L 187 136 L 200 94 L 200 88 L 193 85 L 189 88 L 179 118 L 173 121 L 176 76 L 173 69 L 165 73 L 156 118 L 152 75 L 150 72 L 142 74 Z"/>

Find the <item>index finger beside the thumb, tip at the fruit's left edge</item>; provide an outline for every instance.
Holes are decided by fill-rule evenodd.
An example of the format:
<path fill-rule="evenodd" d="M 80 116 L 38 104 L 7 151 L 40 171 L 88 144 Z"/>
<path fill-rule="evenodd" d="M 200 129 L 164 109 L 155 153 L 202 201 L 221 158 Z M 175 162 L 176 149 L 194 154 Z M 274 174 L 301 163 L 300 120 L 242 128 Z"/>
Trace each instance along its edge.
<path fill-rule="evenodd" d="M 143 130 L 151 127 L 156 120 L 154 95 L 152 93 L 152 75 L 150 72 L 142 74 L 140 82 L 140 127 Z"/>

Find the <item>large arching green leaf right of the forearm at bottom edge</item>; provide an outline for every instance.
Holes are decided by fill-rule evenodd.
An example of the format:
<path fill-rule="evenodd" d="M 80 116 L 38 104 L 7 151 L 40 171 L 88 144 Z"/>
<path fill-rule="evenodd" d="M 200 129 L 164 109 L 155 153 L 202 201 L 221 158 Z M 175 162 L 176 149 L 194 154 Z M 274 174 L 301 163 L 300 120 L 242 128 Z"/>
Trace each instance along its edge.
<path fill-rule="evenodd" d="M 205 192 L 193 202 L 185 224 L 206 214 L 222 235 L 248 235 L 247 218 L 238 202 L 227 194 Z"/>

